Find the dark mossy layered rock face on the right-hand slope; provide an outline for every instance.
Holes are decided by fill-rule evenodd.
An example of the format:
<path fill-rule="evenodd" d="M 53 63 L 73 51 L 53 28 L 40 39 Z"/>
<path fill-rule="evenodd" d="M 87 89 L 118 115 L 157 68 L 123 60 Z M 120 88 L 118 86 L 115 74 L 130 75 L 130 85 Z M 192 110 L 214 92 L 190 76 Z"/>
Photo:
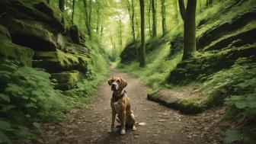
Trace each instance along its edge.
<path fill-rule="evenodd" d="M 215 18 L 200 22 L 197 30 L 203 33 L 197 37 L 197 50 L 201 56 L 180 62 L 177 69 L 171 72 L 169 82 L 187 83 L 200 76 L 213 75 L 221 69 L 229 69 L 239 58 L 256 59 L 256 8 L 251 6 L 252 8 L 240 10 L 239 14 L 230 15 L 232 11 L 236 11 L 232 8 L 242 5 L 243 3 L 239 3 L 231 9 L 224 9 L 223 13 L 220 13 L 221 16 L 216 16 L 227 18 L 221 23 L 215 24 Z M 213 26 L 207 27 L 211 23 Z M 203 28 L 205 30 L 202 30 Z"/>

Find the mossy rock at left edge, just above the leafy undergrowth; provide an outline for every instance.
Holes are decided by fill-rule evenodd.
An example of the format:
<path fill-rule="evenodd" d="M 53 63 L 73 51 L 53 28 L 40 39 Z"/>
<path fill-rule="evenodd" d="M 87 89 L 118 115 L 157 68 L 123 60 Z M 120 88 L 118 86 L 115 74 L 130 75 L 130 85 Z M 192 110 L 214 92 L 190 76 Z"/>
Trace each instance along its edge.
<path fill-rule="evenodd" d="M 11 40 L 0 39 L 0 56 L 18 60 L 24 66 L 32 66 L 34 50 L 11 43 Z"/>

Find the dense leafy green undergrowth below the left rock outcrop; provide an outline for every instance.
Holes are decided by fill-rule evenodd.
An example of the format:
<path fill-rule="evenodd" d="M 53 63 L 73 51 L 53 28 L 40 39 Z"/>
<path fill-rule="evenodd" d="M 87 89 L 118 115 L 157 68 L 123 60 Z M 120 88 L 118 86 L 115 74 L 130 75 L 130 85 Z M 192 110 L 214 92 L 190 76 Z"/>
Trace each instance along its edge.
<path fill-rule="evenodd" d="M 63 95 L 53 89 L 50 74 L 42 69 L 21 67 L 19 62 L 1 59 L 0 137 L 2 142 L 33 139 L 27 127 L 61 120 L 66 110 Z"/>

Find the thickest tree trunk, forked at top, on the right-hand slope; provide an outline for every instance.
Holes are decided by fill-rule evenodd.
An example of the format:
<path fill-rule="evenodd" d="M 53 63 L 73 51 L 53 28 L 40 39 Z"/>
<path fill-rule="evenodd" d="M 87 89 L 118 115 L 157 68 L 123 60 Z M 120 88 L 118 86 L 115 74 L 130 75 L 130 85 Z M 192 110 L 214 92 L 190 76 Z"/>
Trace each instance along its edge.
<path fill-rule="evenodd" d="M 188 59 L 196 51 L 196 8 L 197 0 L 187 0 L 187 9 L 184 0 L 178 0 L 181 18 L 184 21 L 184 53 L 182 59 Z"/>

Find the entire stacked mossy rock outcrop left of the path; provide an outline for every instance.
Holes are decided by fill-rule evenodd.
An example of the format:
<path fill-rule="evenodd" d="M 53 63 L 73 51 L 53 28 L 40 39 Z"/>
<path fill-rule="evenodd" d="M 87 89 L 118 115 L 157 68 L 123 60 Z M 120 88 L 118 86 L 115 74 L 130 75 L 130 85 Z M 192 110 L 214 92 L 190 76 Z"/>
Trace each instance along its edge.
<path fill-rule="evenodd" d="M 73 88 L 91 64 L 78 27 L 40 0 L 0 0 L 0 37 L 2 58 L 45 69 L 63 91 Z"/>

